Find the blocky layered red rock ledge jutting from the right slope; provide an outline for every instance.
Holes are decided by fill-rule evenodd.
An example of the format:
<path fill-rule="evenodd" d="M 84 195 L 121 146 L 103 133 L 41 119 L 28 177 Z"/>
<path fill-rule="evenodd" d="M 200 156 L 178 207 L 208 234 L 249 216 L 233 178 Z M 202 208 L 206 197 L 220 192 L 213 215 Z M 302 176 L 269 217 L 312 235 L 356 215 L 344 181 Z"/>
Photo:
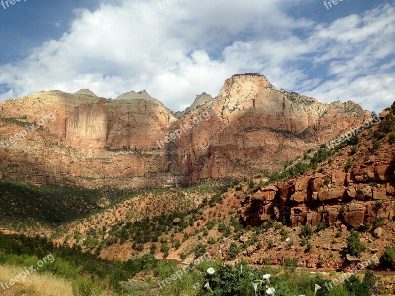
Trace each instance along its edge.
<path fill-rule="evenodd" d="M 324 222 L 339 229 L 342 225 L 359 229 L 377 217 L 392 221 L 394 170 L 394 160 L 386 160 L 348 172 L 303 176 L 266 186 L 244 202 L 239 217 L 253 226 L 268 219 L 282 221 L 285 217 L 291 227 Z M 324 185 L 324 179 L 330 183 Z"/>

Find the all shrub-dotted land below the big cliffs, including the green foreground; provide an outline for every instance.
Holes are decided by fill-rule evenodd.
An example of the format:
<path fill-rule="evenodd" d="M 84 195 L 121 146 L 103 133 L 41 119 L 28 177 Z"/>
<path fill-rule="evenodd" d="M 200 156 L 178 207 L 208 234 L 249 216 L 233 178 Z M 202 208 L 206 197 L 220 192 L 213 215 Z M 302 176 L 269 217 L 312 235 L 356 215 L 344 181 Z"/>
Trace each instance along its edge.
<path fill-rule="evenodd" d="M 0 253 L 0 258 L 11 263 L 11 267 L 0 266 L 0 280 L 11 276 L 17 264 L 7 254 L 16 250 L 25 260 L 36 254 L 28 251 L 31 247 L 23 248 L 25 244 L 36 245 L 34 248 L 42 244 L 40 248 L 56 254 L 56 262 L 71 264 L 67 265 L 69 273 L 64 267 L 50 265 L 46 274 L 40 273 L 22 287 L 53 281 L 50 277 L 59 275 L 50 287 L 63 285 L 65 291 L 77 289 L 81 295 L 120 295 L 122 289 L 130 295 L 211 295 L 200 284 L 208 281 L 219 295 L 228 295 L 219 291 L 235 287 L 233 293 L 251 296 L 251 281 L 265 281 L 263 275 L 270 273 L 270 285 L 280 296 L 313 295 L 316 284 L 321 287 L 316 295 L 392 295 L 395 280 L 387 270 L 395 270 L 395 102 L 379 118 L 350 141 L 331 149 L 325 144 L 309 149 L 303 157 L 286 163 L 281 172 L 252 178 L 207 179 L 188 188 L 119 190 L 117 198 L 105 188 L 38 188 L 3 178 L 8 190 L 5 196 L 13 196 L 10 201 L 19 198 L 26 203 L 21 197 L 26 192 L 34 200 L 47 196 L 56 202 L 51 194 L 57 196 L 65 190 L 62 194 L 69 194 L 70 201 L 62 211 L 75 218 L 68 222 L 59 216 L 59 221 L 52 221 L 46 212 L 33 215 L 24 212 L 26 204 L 18 210 L 19 204 L 14 203 L 13 211 L 4 215 L 13 220 L 18 216 L 12 212 L 21 211 L 42 224 L 50 224 L 49 219 L 55 246 L 43 238 L 33 243 L 15 235 L 0 235 L 0 252 L 5 254 Z M 73 204 L 77 200 L 81 203 Z M 60 226 L 55 230 L 56 222 Z M 19 242 L 9 243 L 10 239 Z M 195 265 L 180 280 L 157 285 L 180 269 L 171 261 L 158 259 L 193 264 L 201 256 L 212 259 Z M 86 267 L 73 269 L 81 260 Z M 232 261 L 236 262 L 234 267 Z M 369 266 L 364 266 L 368 261 Z M 354 266 L 363 271 L 353 275 L 352 281 L 323 289 L 325 283 L 344 274 L 335 270 L 350 271 Z M 215 270 L 213 276 L 207 274 L 208 267 Z M 97 269 L 103 273 L 94 276 Z M 103 275 L 111 275 L 112 284 L 105 284 Z M 81 276 L 93 280 L 81 282 Z M 62 278 L 71 278 L 71 285 Z M 83 294 L 86 285 L 96 294 L 93 290 Z M 9 292 L 24 291 L 18 287 Z M 50 293 L 32 289 L 34 296 Z"/>

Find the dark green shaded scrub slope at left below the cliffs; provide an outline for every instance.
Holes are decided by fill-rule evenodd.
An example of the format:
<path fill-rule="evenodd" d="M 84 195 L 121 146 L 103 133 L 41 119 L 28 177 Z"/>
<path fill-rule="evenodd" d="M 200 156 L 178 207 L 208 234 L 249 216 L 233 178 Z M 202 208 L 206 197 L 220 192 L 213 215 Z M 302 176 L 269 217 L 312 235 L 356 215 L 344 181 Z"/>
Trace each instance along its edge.
<path fill-rule="evenodd" d="M 4 225 L 17 221 L 25 224 L 40 222 L 50 227 L 58 226 L 100 210 L 100 201 L 105 200 L 112 205 L 135 196 L 137 192 L 116 188 L 37 187 L 0 178 L 0 222 Z"/>

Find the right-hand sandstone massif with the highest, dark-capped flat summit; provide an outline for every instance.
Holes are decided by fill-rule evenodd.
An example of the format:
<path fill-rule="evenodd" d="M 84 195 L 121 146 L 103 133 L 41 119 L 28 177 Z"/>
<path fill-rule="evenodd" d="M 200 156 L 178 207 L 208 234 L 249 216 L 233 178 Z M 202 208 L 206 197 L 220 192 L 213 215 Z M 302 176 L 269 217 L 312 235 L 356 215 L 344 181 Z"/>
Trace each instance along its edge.
<path fill-rule="evenodd" d="M 353 102 L 322 104 L 277 90 L 261 75 L 235 75 L 218 97 L 191 111 L 176 126 L 210 114 L 169 145 L 172 168 L 199 178 L 243 177 L 280 170 L 285 160 L 333 139 L 367 118 Z"/>

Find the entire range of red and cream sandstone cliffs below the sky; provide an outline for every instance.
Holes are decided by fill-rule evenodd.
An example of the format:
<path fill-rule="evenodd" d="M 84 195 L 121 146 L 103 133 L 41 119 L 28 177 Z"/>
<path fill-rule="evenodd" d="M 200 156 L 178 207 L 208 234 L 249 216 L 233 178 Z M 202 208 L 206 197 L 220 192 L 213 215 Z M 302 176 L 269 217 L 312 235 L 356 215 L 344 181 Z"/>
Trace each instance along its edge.
<path fill-rule="evenodd" d="M 243 177 L 280 169 L 283 161 L 367 117 L 353 102 L 322 104 L 277 90 L 259 74 L 235 75 L 218 97 L 202 94 L 177 114 L 145 91 L 115 100 L 89 90 L 43 91 L 0 105 L 0 116 L 22 123 L 37 122 L 50 112 L 56 120 L 42 130 L 0 146 L 2 173 L 38 185 L 87 187 L 158 187 Z M 191 123 L 191 129 L 158 149 L 157 140 Z M 0 139 L 20 128 L 0 120 Z"/>

